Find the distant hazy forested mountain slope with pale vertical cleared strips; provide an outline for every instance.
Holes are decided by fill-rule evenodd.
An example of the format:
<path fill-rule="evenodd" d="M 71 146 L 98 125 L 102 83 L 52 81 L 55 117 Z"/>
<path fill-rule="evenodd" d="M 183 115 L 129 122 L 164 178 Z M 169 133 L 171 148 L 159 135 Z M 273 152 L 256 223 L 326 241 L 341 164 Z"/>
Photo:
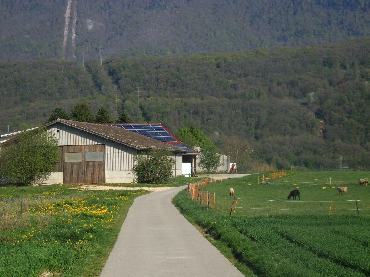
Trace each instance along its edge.
<path fill-rule="evenodd" d="M 366 0 L 1 0 L 0 59 L 328 44 L 370 35 Z M 84 49 L 83 49 L 84 47 Z"/>

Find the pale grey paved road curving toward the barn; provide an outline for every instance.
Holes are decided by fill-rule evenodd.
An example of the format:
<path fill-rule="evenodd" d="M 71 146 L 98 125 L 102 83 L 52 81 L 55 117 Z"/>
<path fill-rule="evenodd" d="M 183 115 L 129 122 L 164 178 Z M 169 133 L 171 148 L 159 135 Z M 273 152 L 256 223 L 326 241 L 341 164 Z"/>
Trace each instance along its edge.
<path fill-rule="evenodd" d="M 172 205 L 183 188 L 135 199 L 101 277 L 243 276 Z"/>

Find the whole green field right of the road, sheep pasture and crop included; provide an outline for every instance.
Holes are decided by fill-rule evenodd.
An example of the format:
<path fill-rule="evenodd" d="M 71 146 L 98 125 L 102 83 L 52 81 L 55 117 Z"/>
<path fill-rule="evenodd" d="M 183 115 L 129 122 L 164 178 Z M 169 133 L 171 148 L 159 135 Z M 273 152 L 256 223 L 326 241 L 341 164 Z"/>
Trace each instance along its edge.
<path fill-rule="evenodd" d="M 369 176 L 370 172 L 288 172 L 266 185 L 258 184 L 262 174 L 250 175 L 203 188 L 203 195 L 206 190 L 215 194 L 215 212 L 212 197 L 209 211 L 184 191 L 174 203 L 221 245 L 222 253 L 227 252 L 225 245 L 229 247 L 246 276 L 369 276 L 370 186 L 357 182 Z M 345 185 L 348 194 L 340 195 L 337 185 Z M 300 201 L 287 200 L 296 186 Z M 230 187 L 239 198 L 234 216 L 229 216 Z M 348 201 L 356 199 L 360 215 L 356 202 Z"/>

